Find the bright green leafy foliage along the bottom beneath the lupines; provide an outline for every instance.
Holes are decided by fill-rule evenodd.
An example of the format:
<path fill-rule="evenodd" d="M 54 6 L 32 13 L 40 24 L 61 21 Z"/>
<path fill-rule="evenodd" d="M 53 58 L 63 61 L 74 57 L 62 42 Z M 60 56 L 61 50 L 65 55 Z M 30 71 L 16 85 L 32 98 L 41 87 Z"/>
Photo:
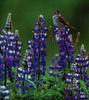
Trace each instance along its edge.
<path fill-rule="evenodd" d="M 54 78 L 43 77 L 43 85 L 36 89 L 29 89 L 27 94 L 18 95 L 18 88 L 11 89 L 11 100 L 64 100 L 65 82 L 55 81 Z M 14 84 L 15 85 L 15 84 Z"/>

